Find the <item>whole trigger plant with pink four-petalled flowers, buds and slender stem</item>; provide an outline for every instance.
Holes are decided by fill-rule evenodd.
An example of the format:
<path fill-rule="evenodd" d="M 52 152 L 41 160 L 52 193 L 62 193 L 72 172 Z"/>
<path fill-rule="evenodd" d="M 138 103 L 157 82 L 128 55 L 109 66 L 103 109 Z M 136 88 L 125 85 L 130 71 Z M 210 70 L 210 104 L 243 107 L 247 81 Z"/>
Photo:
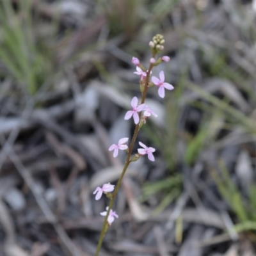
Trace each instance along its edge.
<path fill-rule="evenodd" d="M 161 71 L 158 77 L 151 77 L 152 69 L 159 65 L 162 62 L 170 61 L 168 56 L 160 56 L 157 58 L 157 55 L 161 53 L 164 49 L 164 38 L 162 35 L 156 35 L 152 38 L 152 41 L 149 42 L 149 47 L 152 52 L 152 57 L 150 58 L 150 62 L 148 63 L 148 67 L 144 67 L 140 60 L 136 57 L 133 57 L 131 62 L 132 64 L 136 65 L 136 71 L 134 74 L 140 76 L 139 86 L 141 90 L 141 101 L 139 102 L 137 97 L 133 97 L 131 100 L 131 107 L 132 109 L 127 111 L 124 116 L 125 120 L 133 119 L 134 123 L 136 124 L 134 129 L 134 134 L 131 139 L 131 143 L 129 146 L 127 142 L 129 138 L 121 138 L 117 144 L 113 144 L 109 147 L 109 151 L 113 151 L 113 157 L 118 156 L 118 150 L 125 150 L 127 152 L 127 157 L 125 159 L 124 168 L 122 173 L 116 183 L 116 186 L 111 184 L 104 184 L 102 188 L 98 187 L 95 189 L 93 194 L 95 195 L 95 200 L 99 200 L 103 194 L 105 194 L 109 198 L 108 207 L 106 207 L 106 211 L 100 212 L 100 215 L 105 216 L 104 223 L 102 225 L 102 230 L 100 232 L 99 243 L 97 246 L 97 251 L 95 256 L 99 256 L 100 248 L 102 246 L 102 241 L 104 235 L 108 231 L 108 228 L 111 226 L 115 218 L 118 218 L 118 214 L 113 211 L 113 203 L 118 193 L 118 189 L 120 188 L 120 184 L 122 179 L 124 178 L 125 172 L 129 166 L 129 164 L 133 161 L 137 161 L 140 157 L 145 157 L 147 155 L 149 161 L 155 161 L 154 152 L 156 151 L 155 148 L 147 147 L 141 141 L 138 141 L 138 145 L 141 148 L 138 148 L 138 154 L 132 156 L 132 149 L 136 143 L 136 138 L 138 136 L 138 132 L 140 131 L 141 127 L 146 124 L 146 119 L 148 116 L 152 115 L 157 118 L 157 114 L 154 112 L 154 109 L 148 108 L 146 104 L 146 97 L 147 97 L 147 90 L 152 86 L 156 86 L 158 88 L 158 95 L 161 98 L 164 98 L 165 90 L 173 90 L 172 84 L 166 83 L 164 81 L 164 72 Z"/>

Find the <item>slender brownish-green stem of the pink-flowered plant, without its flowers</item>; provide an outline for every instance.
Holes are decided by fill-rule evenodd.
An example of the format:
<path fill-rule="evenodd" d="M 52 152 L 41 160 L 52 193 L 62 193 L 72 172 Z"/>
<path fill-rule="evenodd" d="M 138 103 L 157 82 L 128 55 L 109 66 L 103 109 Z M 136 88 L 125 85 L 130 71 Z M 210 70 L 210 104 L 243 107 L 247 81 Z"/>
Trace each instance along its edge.
<path fill-rule="evenodd" d="M 153 56 L 153 58 L 154 57 L 155 56 Z M 154 67 L 154 65 L 150 64 L 150 66 L 148 68 L 147 77 L 146 77 L 146 80 L 145 80 L 145 87 L 144 87 L 144 90 L 143 90 L 143 93 L 142 93 L 141 103 L 140 104 L 143 104 L 145 102 L 146 95 L 147 95 L 147 90 L 148 90 L 148 82 L 149 82 L 150 72 L 151 72 L 153 67 Z M 141 117 L 141 112 L 139 113 L 139 116 Z M 113 195 L 112 195 L 112 198 L 111 198 L 111 200 L 109 202 L 109 205 L 108 205 L 108 211 L 107 211 L 107 214 L 105 216 L 104 223 L 102 225 L 102 230 L 100 232 L 99 243 L 97 245 L 97 250 L 96 250 L 95 256 L 99 256 L 100 248 L 102 246 L 102 241 L 103 241 L 105 230 L 106 230 L 106 225 L 108 225 L 109 212 L 110 212 L 110 210 L 111 210 L 111 208 L 113 206 L 116 194 L 117 194 L 118 189 L 119 189 L 119 187 L 121 185 L 122 179 L 124 178 L 125 172 L 126 172 L 128 166 L 129 166 L 129 164 L 131 163 L 130 158 L 131 158 L 131 154 L 132 154 L 132 149 L 134 147 L 134 143 L 135 143 L 135 140 L 136 140 L 136 138 L 138 136 L 139 130 L 140 130 L 140 127 L 139 127 L 139 124 L 137 124 L 136 127 L 135 127 L 135 130 L 134 130 L 134 134 L 132 136 L 132 141 L 131 141 L 131 144 L 130 144 L 130 147 L 129 147 L 129 150 L 128 150 L 128 154 L 127 154 L 127 157 L 126 157 L 126 160 L 125 160 L 124 169 L 123 169 L 123 171 L 122 171 L 122 173 L 120 175 L 120 178 L 118 179 L 118 182 L 116 184 L 115 190 L 114 190 Z"/>

